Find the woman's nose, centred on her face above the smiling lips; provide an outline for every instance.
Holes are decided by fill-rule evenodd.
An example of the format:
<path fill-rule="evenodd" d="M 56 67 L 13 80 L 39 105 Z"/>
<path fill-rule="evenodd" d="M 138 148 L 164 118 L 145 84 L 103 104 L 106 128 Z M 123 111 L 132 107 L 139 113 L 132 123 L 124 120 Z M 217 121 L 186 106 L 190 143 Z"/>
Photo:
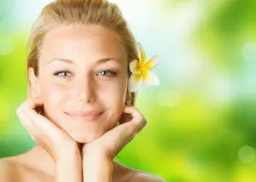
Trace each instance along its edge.
<path fill-rule="evenodd" d="M 95 82 L 92 78 L 79 79 L 75 91 L 79 102 L 87 103 L 96 100 Z"/>

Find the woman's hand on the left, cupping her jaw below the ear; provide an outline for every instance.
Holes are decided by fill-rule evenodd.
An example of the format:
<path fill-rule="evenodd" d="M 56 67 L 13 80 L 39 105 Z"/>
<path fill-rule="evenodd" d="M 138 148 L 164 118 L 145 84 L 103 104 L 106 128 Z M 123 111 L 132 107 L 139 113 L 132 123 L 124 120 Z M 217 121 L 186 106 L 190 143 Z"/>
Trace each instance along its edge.
<path fill-rule="evenodd" d="M 67 158 L 67 155 L 74 156 L 74 152 L 79 151 L 77 142 L 54 122 L 38 114 L 37 109 L 42 105 L 43 103 L 37 99 L 24 101 L 16 110 L 21 124 L 55 162 Z"/>

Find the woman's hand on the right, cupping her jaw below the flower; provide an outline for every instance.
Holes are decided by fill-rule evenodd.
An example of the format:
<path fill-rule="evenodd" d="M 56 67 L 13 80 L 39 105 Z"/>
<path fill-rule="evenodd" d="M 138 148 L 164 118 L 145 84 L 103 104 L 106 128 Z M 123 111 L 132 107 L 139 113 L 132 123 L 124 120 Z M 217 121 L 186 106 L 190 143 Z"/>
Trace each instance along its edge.
<path fill-rule="evenodd" d="M 100 138 L 83 145 L 83 156 L 100 154 L 111 160 L 139 133 L 147 124 L 143 114 L 135 106 L 125 106 L 119 120 L 119 126 L 103 134 Z"/>

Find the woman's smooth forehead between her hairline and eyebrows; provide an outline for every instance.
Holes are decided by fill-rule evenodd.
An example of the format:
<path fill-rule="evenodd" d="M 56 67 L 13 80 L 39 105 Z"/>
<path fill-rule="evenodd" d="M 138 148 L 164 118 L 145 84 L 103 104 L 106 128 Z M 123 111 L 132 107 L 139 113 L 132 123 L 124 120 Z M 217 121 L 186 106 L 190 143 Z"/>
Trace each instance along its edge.
<path fill-rule="evenodd" d="M 40 49 L 40 62 L 53 58 L 94 62 L 114 58 L 125 64 L 126 50 L 122 38 L 111 29 L 99 25 L 61 25 L 48 31 Z"/>

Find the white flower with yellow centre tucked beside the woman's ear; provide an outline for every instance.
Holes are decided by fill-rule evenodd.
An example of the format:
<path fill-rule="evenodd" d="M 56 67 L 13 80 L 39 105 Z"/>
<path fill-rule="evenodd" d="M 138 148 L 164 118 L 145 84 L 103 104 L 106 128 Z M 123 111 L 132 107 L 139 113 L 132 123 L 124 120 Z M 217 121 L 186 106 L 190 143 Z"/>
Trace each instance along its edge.
<path fill-rule="evenodd" d="M 137 92 L 138 88 L 145 85 L 158 85 L 160 83 L 159 78 L 151 72 L 151 70 L 157 65 L 160 61 L 159 55 L 155 55 L 147 62 L 146 54 L 143 50 L 143 46 L 141 43 L 137 43 L 140 51 L 140 60 L 132 60 L 130 62 L 130 71 L 132 72 L 131 77 L 129 79 L 129 91 Z"/>

